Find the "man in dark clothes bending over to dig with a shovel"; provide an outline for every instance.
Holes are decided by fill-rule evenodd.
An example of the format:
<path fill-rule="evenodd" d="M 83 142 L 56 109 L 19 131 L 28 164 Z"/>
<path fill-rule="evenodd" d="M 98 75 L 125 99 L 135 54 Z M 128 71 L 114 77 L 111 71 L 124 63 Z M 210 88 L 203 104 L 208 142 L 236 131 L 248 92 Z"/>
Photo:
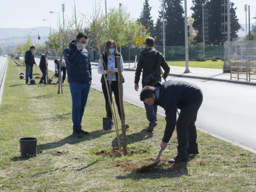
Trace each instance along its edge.
<path fill-rule="evenodd" d="M 181 80 L 158 82 L 154 87 L 145 86 L 140 92 L 140 100 L 149 106 L 159 105 L 165 110 L 166 126 L 160 144 L 166 148 L 172 133 L 177 130 L 178 155 L 169 163 L 188 162 L 188 155 L 198 154 L 196 143 L 196 116 L 203 102 L 203 92 L 196 84 Z M 176 122 L 177 108 L 180 115 Z"/>

